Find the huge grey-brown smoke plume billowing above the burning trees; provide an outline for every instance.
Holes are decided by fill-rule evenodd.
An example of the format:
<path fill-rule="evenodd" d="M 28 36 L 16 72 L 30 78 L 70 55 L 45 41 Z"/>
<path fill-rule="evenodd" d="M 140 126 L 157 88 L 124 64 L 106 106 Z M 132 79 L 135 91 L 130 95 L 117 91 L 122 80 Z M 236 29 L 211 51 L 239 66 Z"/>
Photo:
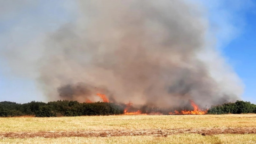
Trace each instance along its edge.
<path fill-rule="evenodd" d="M 81 0 L 40 60 L 49 100 L 201 106 L 239 99 L 239 78 L 206 41 L 203 12 L 181 0 Z"/>

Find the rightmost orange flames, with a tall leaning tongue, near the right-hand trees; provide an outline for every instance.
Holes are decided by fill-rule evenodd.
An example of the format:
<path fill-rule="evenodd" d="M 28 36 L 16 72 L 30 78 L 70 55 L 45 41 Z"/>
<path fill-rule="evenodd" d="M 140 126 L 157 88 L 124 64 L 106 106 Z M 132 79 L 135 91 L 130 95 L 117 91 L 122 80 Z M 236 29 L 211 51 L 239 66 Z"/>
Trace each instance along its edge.
<path fill-rule="evenodd" d="M 177 110 L 174 111 L 174 113 L 169 112 L 169 115 L 205 115 L 207 114 L 207 110 L 201 110 L 198 105 L 193 101 L 189 100 L 191 106 L 194 108 L 194 110 L 182 110 L 178 112 Z"/>

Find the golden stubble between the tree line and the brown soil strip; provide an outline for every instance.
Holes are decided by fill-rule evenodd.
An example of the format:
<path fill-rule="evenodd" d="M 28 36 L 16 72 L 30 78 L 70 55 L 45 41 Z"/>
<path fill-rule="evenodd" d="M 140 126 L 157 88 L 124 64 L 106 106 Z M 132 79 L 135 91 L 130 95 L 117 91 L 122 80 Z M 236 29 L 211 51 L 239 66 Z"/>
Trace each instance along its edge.
<path fill-rule="evenodd" d="M 256 114 L 0 118 L 0 132 L 77 132 L 256 127 Z"/>

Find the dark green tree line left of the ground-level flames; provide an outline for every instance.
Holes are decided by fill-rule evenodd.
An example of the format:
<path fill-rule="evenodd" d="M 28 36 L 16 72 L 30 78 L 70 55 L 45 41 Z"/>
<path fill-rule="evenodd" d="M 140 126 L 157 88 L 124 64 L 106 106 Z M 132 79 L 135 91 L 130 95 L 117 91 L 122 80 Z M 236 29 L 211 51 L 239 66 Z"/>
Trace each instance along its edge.
<path fill-rule="evenodd" d="M 0 102 L 1 117 L 26 115 L 34 115 L 36 117 L 96 116 L 119 115 L 123 113 L 124 106 L 106 102 L 79 103 L 69 100 L 58 100 L 48 103 L 31 101 L 25 104 L 9 101 Z"/>

